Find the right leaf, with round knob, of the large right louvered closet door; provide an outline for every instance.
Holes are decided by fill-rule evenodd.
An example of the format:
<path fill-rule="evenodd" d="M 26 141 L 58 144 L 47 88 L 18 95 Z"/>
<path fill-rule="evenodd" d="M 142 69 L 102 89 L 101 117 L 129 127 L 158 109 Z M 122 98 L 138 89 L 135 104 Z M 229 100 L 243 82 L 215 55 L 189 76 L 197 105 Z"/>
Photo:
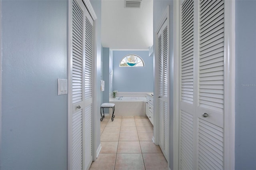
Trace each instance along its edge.
<path fill-rule="evenodd" d="M 223 169 L 224 0 L 200 1 L 197 76 L 198 168 Z"/>

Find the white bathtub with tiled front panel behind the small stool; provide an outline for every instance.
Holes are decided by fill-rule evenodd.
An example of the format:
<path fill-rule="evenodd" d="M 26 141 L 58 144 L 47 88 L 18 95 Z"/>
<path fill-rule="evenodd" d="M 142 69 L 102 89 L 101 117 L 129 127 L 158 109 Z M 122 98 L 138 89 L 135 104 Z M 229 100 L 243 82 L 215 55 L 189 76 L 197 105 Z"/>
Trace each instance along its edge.
<path fill-rule="evenodd" d="M 146 97 L 110 98 L 109 102 L 115 104 L 116 116 L 146 116 Z"/>

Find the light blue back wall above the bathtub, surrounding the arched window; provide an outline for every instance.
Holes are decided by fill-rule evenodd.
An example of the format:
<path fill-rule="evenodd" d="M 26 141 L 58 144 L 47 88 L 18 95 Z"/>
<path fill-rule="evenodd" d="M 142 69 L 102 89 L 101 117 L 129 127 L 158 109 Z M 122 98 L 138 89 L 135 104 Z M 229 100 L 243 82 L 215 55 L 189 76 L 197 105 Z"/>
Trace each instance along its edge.
<path fill-rule="evenodd" d="M 125 55 L 139 55 L 145 67 L 119 67 Z M 113 90 L 124 92 L 153 91 L 153 58 L 148 57 L 148 51 L 113 51 Z"/>

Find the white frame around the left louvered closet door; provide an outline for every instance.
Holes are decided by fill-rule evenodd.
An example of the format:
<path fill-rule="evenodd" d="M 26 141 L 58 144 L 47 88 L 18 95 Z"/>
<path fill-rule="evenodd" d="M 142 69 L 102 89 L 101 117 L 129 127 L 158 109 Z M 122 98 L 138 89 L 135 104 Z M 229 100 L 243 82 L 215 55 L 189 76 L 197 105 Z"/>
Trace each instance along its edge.
<path fill-rule="evenodd" d="M 96 121 L 96 57 L 97 57 L 97 24 L 96 24 L 96 13 L 92 8 L 92 4 L 90 0 L 82 0 L 94 21 L 93 28 L 93 80 L 92 80 L 92 97 L 93 97 L 93 105 L 92 105 L 92 158 L 96 160 L 96 136 L 97 136 L 97 121 Z M 68 169 L 71 170 L 71 121 L 72 121 L 72 0 L 68 0 Z"/>

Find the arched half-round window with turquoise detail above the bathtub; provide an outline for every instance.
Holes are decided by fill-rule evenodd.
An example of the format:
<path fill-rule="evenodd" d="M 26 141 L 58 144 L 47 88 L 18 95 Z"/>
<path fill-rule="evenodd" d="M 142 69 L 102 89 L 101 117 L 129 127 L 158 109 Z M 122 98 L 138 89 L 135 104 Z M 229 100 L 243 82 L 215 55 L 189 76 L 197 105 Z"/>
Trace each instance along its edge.
<path fill-rule="evenodd" d="M 120 67 L 145 67 L 142 58 L 135 54 L 129 54 L 122 58 Z"/>

